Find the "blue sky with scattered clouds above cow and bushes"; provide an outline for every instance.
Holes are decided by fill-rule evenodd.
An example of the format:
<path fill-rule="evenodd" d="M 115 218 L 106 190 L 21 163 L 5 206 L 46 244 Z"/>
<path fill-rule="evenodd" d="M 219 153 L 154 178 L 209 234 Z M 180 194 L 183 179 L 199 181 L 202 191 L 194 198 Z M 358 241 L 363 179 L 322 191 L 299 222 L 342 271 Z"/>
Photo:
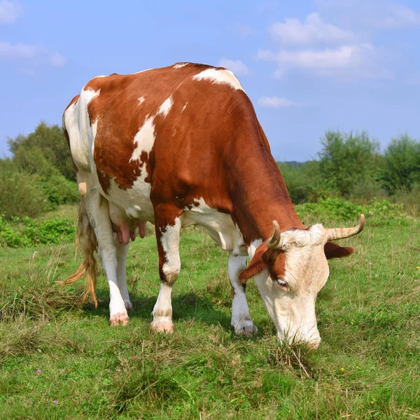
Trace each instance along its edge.
<path fill-rule="evenodd" d="M 0 157 L 94 76 L 175 62 L 232 70 L 276 160 L 326 130 L 420 139 L 418 0 L 0 0 Z"/>

